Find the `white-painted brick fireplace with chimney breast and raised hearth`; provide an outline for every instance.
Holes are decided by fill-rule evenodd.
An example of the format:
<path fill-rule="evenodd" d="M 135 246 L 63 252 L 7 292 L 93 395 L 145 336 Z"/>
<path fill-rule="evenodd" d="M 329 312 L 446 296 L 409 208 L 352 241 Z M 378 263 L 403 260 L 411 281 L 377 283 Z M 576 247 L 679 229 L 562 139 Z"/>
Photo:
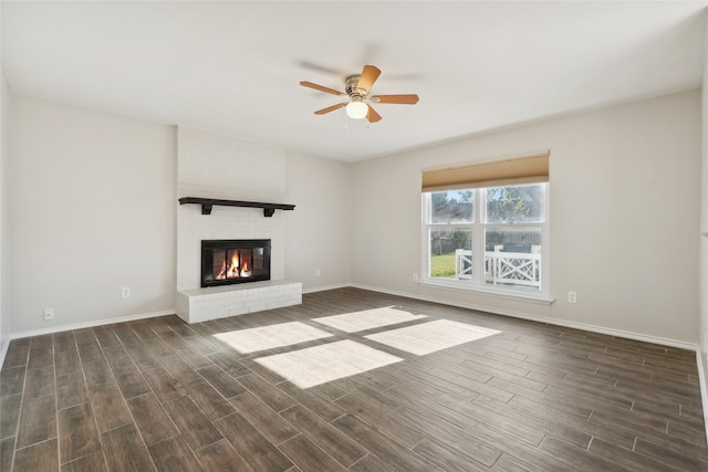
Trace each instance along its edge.
<path fill-rule="evenodd" d="M 237 138 L 179 127 L 177 143 L 178 199 L 282 202 L 285 189 L 285 154 Z M 194 201 L 188 201 L 192 203 Z M 176 202 L 177 204 L 177 202 Z M 215 204 L 204 211 L 199 204 L 177 207 L 177 314 L 188 323 L 202 322 L 302 303 L 302 283 L 285 280 L 284 211 L 264 214 L 263 208 Z M 240 248 L 238 276 L 231 269 L 227 282 L 202 284 L 202 241 L 269 241 L 269 277 L 254 276 L 253 264 L 264 262 L 253 248 Z M 228 248 L 223 248 L 228 251 Z M 250 252 L 249 252 L 250 250 Z M 257 251 L 258 252 L 258 251 Z M 218 256 L 220 256 L 219 253 Z M 225 253 L 227 271 L 232 251 Z M 242 254 L 251 258 L 244 270 Z M 212 253 L 214 256 L 214 253 Z M 260 261 L 260 262 L 259 262 Z M 218 280 L 221 263 L 215 275 Z M 250 272 L 250 274 L 249 274 Z M 248 283 L 243 283 L 246 279 Z M 214 280 L 211 282 L 215 282 Z"/>

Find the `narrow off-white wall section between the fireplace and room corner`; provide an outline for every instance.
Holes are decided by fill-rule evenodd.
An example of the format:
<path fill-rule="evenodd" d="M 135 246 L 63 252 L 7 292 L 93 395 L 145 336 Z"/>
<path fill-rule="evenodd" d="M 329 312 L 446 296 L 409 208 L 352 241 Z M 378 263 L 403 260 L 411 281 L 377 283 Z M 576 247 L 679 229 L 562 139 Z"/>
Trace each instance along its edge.
<path fill-rule="evenodd" d="M 285 202 L 287 277 L 304 292 L 347 285 L 350 281 L 350 166 L 289 153 Z M 320 276 L 316 276 L 316 270 Z"/>

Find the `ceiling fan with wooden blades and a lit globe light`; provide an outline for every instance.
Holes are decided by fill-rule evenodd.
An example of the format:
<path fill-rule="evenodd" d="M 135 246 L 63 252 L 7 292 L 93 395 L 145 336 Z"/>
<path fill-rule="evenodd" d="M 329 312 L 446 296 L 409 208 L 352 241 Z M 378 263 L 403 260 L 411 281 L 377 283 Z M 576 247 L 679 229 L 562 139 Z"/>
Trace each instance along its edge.
<path fill-rule="evenodd" d="M 376 82 L 376 78 L 381 75 L 378 67 L 373 65 L 365 65 L 360 75 L 350 75 L 345 80 L 345 91 L 340 92 L 334 88 L 325 87 L 322 85 L 313 84 L 312 82 L 300 82 L 303 87 L 314 88 L 315 91 L 325 92 L 332 95 L 340 95 L 348 97 L 348 102 L 337 103 L 336 105 L 327 106 L 326 108 L 317 109 L 315 115 L 324 115 L 325 113 L 334 112 L 346 107 L 346 115 L 353 119 L 366 118 L 369 123 L 379 122 L 381 115 L 371 106 L 372 103 L 394 103 L 400 105 L 415 105 L 418 103 L 418 95 L 368 95 Z"/>

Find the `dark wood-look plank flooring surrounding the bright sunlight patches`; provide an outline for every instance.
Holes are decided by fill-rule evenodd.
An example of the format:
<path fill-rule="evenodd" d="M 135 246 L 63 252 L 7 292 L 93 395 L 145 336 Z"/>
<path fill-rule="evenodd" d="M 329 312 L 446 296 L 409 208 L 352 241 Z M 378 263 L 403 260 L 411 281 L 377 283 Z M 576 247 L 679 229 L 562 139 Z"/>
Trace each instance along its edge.
<path fill-rule="evenodd" d="M 417 356 L 311 318 L 396 306 L 501 331 Z M 335 334 L 240 354 L 212 335 Z M 301 389 L 257 357 L 353 339 L 404 358 Z M 165 316 L 11 342 L 2 471 L 704 471 L 695 353 L 341 289 L 187 325 Z"/>

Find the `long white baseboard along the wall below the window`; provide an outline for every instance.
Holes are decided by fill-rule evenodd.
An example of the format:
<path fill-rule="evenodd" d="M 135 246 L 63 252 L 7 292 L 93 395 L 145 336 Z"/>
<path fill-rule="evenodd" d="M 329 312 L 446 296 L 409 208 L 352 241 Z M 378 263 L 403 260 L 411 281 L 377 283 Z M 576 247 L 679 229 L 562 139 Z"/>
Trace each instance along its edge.
<path fill-rule="evenodd" d="M 606 334 L 608 336 L 617 336 L 617 337 L 624 337 L 624 338 L 627 338 L 627 339 L 642 340 L 642 342 L 645 342 L 645 343 L 659 344 L 662 346 L 676 347 L 676 348 L 679 348 L 679 349 L 687 349 L 687 350 L 694 350 L 694 352 L 698 350 L 698 345 L 697 344 L 695 344 L 695 343 L 686 343 L 684 340 L 669 339 L 669 338 L 657 337 L 657 336 L 649 336 L 649 335 L 639 334 L 639 333 L 626 332 L 626 331 L 622 331 L 622 329 L 606 328 L 606 327 L 603 327 L 603 326 L 587 325 L 587 324 L 584 324 L 584 323 L 568 322 L 568 321 L 564 321 L 564 319 L 558 319 L 558 318 L 546 318 L 546 317 L 543 317 L 543 316 L 534 316 L 534 315 L 529 315 L 527 313 L 514 312 L 514 311 L 510 311 L 510 310 L 499 310 L 499 308 L 494 308 L 492 306 L 477 305 L 477 304 L 473 304 L 473 303 L 455 302 L 455 301 L 449 301 L 449 300 L 444 300 L 444 298 L 436 298 L 436 297 L 431 297 L 431 296 L 423 296 L 423 295 L 414 294 L 414 293 L 383 290 L 383 289 L 379 289 L 379 287 L 368 286 L 368 285 L 351 284 L 350 286 L 355 287 L 355 289 L 369 290 L 372 292 L 386 293 L 386 294 L 389 294 L 389 295 L 405 296 L 405 297 L 408 297 L 408 298 L 420 300 L 423 302 L 439 303 L 441 305 L 449 305 L 449 306 L 457 306 L 457 307 L 460 307 L 460 308 L 476 310 L 476 311 L 479 311 L 479 312 L 492 313 L 494 315 L 509 316 L 509 317 L 513 317 L 513 318 L 528 319 L 528 321 L 531 321 L 531 322 L 546 323 L 546 324 L 554 325 L 554 326 L 563 326 L 563 327 L 566 327 L 566 328 L 582 329 L 582 331 L 587 331 L 587 332 L 591 332 L 591 333 Z M 706 403 L 706 405 L 708 405 L 708 403 Z"/>

